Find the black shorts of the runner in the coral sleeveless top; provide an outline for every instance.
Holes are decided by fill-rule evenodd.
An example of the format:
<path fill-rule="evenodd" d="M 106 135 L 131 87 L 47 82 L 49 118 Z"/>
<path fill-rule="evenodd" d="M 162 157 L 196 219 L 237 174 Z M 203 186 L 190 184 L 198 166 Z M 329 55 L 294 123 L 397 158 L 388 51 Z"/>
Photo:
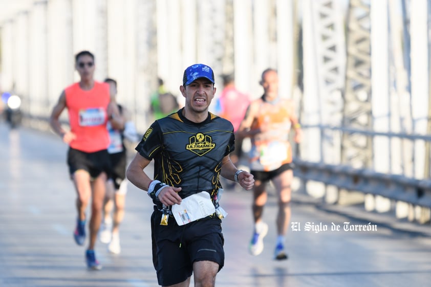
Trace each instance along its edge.
<path fill-rule="evenodd" d="M 111 161 L 106 149 L 96 152 L 84 152 L 69 147 L 68 165 L 70 175 L 78 169 L 88 171 L 93 179 L 97 178 L 103 171 L 106 172 L 107 176 L 110 176 L 111 173 Z"/>

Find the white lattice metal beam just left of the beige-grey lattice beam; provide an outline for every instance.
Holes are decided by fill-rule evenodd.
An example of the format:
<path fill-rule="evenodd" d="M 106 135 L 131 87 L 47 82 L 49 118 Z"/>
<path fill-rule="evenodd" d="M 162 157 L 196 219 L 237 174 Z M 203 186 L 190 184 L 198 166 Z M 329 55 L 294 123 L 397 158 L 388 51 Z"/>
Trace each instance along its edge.
<path fill-rule="evenodd" d="M 314 47 L 316 53 L 317 93 L 321 123 L 340 125 L 342 98 L 340 91 L 346 77 L 346 44 L 339 2 L 319 0 L 311 2 Z M 321 155 L 324 162 L 339 163 L 340 141 L 334 134 L 321 130 Z M 333 152 L 325 152 L 331 150 Z M 337 156 L 334 156 L 337 155 Z"/>

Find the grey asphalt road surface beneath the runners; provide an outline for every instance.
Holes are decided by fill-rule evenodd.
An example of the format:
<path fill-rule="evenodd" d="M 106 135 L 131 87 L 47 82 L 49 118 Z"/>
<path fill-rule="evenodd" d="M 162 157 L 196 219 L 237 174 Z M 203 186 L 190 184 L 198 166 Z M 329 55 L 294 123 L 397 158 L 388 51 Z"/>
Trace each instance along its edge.
<path fill-rule="evenodd" d="M 152 204 L 132 185 L 121 226 L 122 253 L 112 255 L 98 242 L 103 269 L 87 269 L 84 247 L 72 237 L 75 191 L 66 152 L 67 146 L 51 133 L 9 130 L 0 123 L 0 286 L 158 286 L 150 250 Z M 270 195 L 264 212 L 270 227 L 265 250 L 253 257 L 247 250 L 251 193 L 235 189 L 223 194 L 221 204 L 229 215 L 223 222 L 226 261 L 218 287 L 429 286 L 429 225 L 399 222 L 358 207 L 326 206 L 297 192 L 289 259 L 273 260 L 276 205 Z"/>

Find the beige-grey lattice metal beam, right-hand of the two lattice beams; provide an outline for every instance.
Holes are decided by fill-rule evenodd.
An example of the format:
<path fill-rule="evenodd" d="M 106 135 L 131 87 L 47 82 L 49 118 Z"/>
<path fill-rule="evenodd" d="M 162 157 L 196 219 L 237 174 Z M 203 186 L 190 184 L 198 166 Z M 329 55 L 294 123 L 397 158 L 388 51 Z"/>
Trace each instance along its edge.
<path fill-rule="evenodd" d="M 347 72 L 342 124 L 345 127 L 371 128 L 370 1 L 350 1 L 347 30 Z M 343 135 L 341 162 L 353 167 L 370 167 L 370 139 L 355 133 Z"/>

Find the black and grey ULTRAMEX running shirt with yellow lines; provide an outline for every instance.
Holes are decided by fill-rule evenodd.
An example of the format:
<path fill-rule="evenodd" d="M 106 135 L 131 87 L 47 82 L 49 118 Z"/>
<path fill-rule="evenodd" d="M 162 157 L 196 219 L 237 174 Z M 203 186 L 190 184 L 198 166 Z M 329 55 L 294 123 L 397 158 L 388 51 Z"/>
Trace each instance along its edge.
<path fill-rule="evenodd" d="M 194 123 L 180 109 L 156 120 L 135 149 L 142 157 L 154 159 L 154 179 L 181 187 L 182 198 L 204 190 L 212 198 L 221 187 L 222 159 L 233 151 L 234 141 L 228 120 L 208 113 L 204 122 Z"/>

